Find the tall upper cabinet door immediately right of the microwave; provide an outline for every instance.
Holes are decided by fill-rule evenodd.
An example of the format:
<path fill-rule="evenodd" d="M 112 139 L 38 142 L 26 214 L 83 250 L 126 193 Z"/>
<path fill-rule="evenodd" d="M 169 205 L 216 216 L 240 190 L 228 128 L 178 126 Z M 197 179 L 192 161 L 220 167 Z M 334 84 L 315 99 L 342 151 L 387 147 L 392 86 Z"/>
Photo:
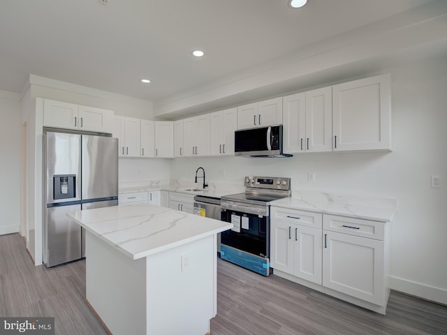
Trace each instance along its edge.
<path fill-rule="evenodd" d="M 288 154 L 306 150 L 306 94 L 283 98 L 283 151 Z"/>

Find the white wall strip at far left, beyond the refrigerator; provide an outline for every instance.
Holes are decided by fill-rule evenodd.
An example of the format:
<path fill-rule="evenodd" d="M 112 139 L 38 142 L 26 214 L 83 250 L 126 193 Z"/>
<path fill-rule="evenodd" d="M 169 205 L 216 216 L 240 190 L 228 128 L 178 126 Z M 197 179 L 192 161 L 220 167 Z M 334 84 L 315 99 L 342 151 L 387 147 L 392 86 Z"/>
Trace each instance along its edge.
<path fill-rule="evenodd" d="M 0 234 L 20 229 L 22 126 L 18 94 L 0 91 Z"/>

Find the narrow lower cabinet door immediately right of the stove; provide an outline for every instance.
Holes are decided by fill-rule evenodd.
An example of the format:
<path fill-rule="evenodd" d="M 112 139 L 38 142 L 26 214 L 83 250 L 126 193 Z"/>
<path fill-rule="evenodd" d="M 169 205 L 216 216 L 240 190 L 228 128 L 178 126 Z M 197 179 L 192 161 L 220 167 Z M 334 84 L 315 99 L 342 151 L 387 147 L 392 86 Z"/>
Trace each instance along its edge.
<path fill-rule="evenodd" d="M 270 223 L 270 262 L 273 269 L 293 274 L 292 228 L 295 225 L 272 220 Z"/>

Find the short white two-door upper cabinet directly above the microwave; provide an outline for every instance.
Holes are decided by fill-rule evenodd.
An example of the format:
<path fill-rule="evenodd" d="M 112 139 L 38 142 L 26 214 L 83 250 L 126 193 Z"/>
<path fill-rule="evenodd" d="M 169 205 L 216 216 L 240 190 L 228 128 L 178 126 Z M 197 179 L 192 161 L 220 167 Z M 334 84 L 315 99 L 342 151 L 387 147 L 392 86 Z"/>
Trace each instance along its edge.
<path fill-rule="evenodd" d="M 237 107 L 237 129 L 282 124 L 282 97 Z"/>

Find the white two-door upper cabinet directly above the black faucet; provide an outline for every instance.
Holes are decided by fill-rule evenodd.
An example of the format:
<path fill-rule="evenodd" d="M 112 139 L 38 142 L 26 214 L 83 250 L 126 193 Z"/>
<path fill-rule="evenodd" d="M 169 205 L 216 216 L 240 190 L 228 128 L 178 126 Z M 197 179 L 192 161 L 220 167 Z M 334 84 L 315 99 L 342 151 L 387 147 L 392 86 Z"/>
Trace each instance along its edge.
<path fill-rule="evenodd" d="M 184 156 L 210 154 L 210 114 L 183 120 Z"/>

